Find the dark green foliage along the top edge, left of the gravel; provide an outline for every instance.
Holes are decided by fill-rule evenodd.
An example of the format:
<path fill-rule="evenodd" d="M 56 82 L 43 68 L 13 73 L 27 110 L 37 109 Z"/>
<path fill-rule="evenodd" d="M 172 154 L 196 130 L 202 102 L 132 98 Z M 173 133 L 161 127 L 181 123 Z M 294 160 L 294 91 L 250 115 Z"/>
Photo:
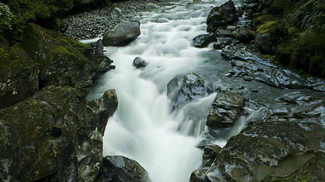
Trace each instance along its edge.
<path fill-rule="evenodd" d="M 14 24 L 38 18 L 60 17 L 73 6 L 73 0 L 11 0 L 8 6 L 15 15 Z"/>

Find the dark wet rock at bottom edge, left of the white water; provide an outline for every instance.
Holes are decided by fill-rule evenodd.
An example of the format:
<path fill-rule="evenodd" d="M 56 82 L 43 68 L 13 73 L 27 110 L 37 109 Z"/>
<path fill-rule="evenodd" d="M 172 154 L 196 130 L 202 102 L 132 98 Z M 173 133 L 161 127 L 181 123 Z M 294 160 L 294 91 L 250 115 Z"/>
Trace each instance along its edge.
<path fill-rule="evenodd" d="M 95 182 L 150 182 L 148 172 L 135 160 L 123 156 L 106 156 Z"/>

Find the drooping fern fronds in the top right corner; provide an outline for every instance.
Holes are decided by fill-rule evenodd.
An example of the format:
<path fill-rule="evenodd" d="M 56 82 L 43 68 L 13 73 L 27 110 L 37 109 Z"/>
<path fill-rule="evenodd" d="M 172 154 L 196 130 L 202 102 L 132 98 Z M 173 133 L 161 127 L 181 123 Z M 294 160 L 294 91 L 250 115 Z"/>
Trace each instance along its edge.
<path fill-rule="evenodd" d="M 325 1 L 310 0 L 288 14 L 288 18 L 303 31 L 325 32 Z"/>

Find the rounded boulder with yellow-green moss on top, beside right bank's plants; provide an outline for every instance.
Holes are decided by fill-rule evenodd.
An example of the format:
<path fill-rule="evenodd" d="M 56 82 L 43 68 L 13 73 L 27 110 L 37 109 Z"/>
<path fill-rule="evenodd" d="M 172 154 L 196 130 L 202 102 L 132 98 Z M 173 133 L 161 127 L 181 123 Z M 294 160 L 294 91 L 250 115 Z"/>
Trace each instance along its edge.
<path fill-rule="evenodd" d="M 265 22 L 256 30 L 255 47 L 264 54 L 274 54 L 277 45 L 287 36 L 288 31 L 282 22 Z"/>

